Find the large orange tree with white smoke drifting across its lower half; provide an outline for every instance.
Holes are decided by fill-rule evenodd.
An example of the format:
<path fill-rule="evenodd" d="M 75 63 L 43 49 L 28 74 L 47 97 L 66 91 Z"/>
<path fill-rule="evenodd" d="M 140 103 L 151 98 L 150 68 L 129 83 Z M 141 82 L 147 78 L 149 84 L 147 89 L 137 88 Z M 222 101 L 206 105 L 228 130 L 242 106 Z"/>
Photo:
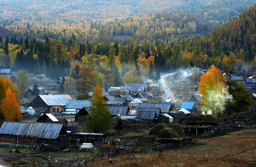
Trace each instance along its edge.
<path fill-rule="evenodd" d="M 205 113 L 218 114 L 224 110 L 226 102 L 225 77 L 214 65 L 203 73 L 198 83 L 198 91 L 202 95 L 202 108 Z"/>

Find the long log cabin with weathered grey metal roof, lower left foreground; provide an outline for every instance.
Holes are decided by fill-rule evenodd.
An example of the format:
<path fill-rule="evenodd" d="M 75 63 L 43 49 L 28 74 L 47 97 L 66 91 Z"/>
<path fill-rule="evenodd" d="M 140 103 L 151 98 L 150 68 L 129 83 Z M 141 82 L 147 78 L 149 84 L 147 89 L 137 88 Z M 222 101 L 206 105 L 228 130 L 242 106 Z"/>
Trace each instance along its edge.
<path fill-rule="evenodd" d="M 59 123 L 4 122 L 0 128 L 0 142 L 29 147 L 45 143 L 55 144 L 61 149 L 69 148 L 68 144 L 63 144 L 67 135 L 64 125 Z"/>

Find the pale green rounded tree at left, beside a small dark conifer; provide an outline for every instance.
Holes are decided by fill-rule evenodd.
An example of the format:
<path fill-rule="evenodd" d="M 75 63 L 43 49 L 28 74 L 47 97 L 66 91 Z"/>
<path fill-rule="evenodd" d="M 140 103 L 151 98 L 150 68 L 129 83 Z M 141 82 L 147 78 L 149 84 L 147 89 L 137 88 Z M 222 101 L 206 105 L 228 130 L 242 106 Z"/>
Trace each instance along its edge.
<path fill-rule="evenodd" d="M 21 69 L 18 74 L 18 88 L 20 89 L 20 94 L 24 95 L 25 90 L 28 88 L 29 81 L 27 71 L 25 69 Z"/>

